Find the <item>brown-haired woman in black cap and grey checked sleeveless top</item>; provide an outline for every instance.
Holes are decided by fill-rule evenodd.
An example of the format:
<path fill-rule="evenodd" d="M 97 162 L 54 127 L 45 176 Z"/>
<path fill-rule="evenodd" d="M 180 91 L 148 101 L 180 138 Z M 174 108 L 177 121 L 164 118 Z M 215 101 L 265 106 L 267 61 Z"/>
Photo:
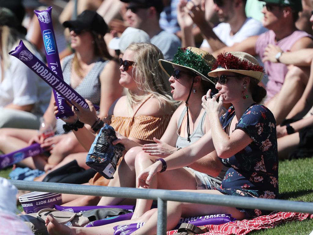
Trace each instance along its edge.
<path fill-rule="evenodd" d="M 92 27 L 85 28 L 88 24 Z M 103 39 L 108 26 L 96 12 L 84 11 L 77 17 L 77 20 L 64 22 L 64 27 L 70 29 L 71 48 L 75 50 L 74 54 L 61 61 L 64 81 L 82 97 L 100 105 L 99 117 L 105 117 L 109 107 L 121 96 L 123 90 L 118 83 L 120 78 L 119 64 L 108 53 Z M 102 86 L 103 84 L 105 86 Z M 110 87 L 114 87 L 114 89 L 110 89 Z M 16 129 L 1 130 L 0 135 L 10 138 L 11 142 L 10 146 L 1 149 L 1 151 L 9 153 L 28 146 L 28 143 L 38 142 L 42 148 L 50 151 L 49 164 L 47 164 L 46 158 L 39 155 L 35 158 L 24 159 L 22 163 L 31 169 L 37 168 L 45 171 L 57 165 L 69 154 L 75 154 L 74 157 L 77 158 L 80 156 L 85 158 L 86 150 L 80 145 L 75 135 L 64 133 L 62 128 L 64 122 L 61 119 L 55 119 L 53 95 L 43 118 L 44 125 L 39 132 L 21 129 L 16 134 Z M 47 128 L 55 129 L 57 135 L 44 140 L 42 133 Z"/>

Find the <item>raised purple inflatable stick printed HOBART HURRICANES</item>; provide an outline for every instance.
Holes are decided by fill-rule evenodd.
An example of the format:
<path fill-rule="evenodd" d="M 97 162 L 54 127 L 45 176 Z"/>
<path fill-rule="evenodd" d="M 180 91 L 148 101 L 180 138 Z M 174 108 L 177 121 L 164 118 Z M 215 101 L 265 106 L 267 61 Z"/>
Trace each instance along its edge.
<path fill-rule="evenodd" d="M 41 60 L 39 60 L 33 53 L 31 53 L 21 40 L 19 45 L 12 51 L 9 52 L 19 60 L 21 60 L 25 65 L 33 70 L 41 79 L 43 79 L 49 86 L 64 97 L 69 103 L 71 100 L 77 102 L 83 108 L 89 108 L 85 99 L 80 96 L 71 86 L 69 86 L 63 79 L 56 75 L 51 69 L 47 67 Z M 96 110 L 99 107 L 94 105 Z"/>

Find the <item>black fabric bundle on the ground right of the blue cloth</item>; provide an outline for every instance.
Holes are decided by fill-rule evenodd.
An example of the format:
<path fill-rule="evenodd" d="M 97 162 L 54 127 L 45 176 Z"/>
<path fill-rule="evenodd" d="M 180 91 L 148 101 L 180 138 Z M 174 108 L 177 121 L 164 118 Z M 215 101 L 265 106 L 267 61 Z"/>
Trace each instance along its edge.
<path fill-rule="evenodd" d="M 49 172 L 43 182 L 84 184 L 95 175 L 95 170 L 81 168 L 76 160 L 73 160 L 60 168 Z"/>

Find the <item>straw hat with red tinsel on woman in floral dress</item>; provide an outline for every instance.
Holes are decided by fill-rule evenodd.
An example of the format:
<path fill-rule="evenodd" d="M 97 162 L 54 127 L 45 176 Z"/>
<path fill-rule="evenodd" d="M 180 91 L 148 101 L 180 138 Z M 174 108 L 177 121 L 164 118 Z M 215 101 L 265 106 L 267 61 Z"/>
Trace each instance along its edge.
<path fill-rule="evenodd" d="M 264 67 L 257 59 L 245 52 L 228 52 L 217 56 L 216 63 L 208 76 L 216 77 L 219 71 L 230 71 L 253 77 L 261 81 L 264 76 Z"/>

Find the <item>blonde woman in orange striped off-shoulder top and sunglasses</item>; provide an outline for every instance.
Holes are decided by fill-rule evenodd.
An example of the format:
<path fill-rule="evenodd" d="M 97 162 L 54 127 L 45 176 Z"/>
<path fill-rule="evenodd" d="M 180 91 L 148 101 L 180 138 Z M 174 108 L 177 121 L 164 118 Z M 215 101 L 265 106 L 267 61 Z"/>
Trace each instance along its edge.
<path fill-rule="evenodd" d="M 74 103 L 78 110 L 73 110 L 79 121 L 89 124 L 94 132 L 98 132 L 104 123 L 111 125 L 119 138 L 117 142 L 123 144 L 126 151 L 135 146 L 152 143 L 154 137 L 161 138 L 178 105 L 172 99 L 166 74 L 158 66 L 157 61 L 163 58 L 162 52 L 153 44 L 130 44 L 120 59 L 119 83 L 126 88 L 126 95 L 113 103 L 103 121 L 88 100 L 90 109 L 83 109 Z M 66 122 L 74 123 L 77 117 L 72 117 Z M 87 128 L 79 128 L 73 133 L 88 151 L 95 135 Z M 80 164 L 85 164 L 85 158 L 80 160 Z M 109 180 L 97 173 L 89 182 L 92 185 L 106 186 Z M 72 201 L 74 199 L 76 200 Z M 100 197 L 95 196 L 63 197 L 63 202 L 72 201 L 71 204 L 75 205 L 96 204 L 99 200 Z"/>

